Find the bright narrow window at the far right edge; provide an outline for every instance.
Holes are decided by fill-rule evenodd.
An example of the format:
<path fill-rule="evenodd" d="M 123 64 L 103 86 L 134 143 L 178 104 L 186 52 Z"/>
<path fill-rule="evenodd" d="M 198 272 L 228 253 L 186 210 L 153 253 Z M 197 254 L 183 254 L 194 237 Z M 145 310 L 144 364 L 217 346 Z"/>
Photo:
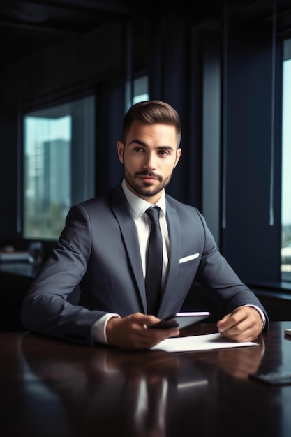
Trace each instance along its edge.
<path fill-rule="evenodd" d="M 291 281 L 291 39 L 284 42 L 282 104 L 281 280 Z"/>

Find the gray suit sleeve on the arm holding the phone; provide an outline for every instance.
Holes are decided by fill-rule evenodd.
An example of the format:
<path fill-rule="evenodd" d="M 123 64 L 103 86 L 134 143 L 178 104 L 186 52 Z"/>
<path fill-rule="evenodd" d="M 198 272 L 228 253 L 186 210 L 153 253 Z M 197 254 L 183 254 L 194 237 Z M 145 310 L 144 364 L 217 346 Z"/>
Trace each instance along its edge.
<path fill-rule="evenodd" d="M 89 311 L 67 301 L 86 272 L 90 251 L 89 217 L 84 208 L 73 207 L 56 248 L 24 297 L 21 310 L 24 327 L 93 346 L 91 327 L 104 312 Z"/>

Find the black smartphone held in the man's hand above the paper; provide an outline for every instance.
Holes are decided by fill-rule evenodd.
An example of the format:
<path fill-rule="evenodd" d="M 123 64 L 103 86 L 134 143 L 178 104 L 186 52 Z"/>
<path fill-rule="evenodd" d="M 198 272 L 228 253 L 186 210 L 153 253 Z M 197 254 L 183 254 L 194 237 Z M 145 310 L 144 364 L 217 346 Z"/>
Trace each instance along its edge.
<path fill-rule="evenodd" d="M 155 323 L 154 325 L 148 325 L 147 327 L 150 329 L 170 329 L 170 328 L 178 328 L 182 329 L 186 326 L 193 325 L 193 323 L 200 322 L 204 318 L 210 316 L 209 311 L 196 311 L 190 313 L 176 313 L 172 314 L 172 316 L 168 316 L 160 320 L 160 322 Z"/>

